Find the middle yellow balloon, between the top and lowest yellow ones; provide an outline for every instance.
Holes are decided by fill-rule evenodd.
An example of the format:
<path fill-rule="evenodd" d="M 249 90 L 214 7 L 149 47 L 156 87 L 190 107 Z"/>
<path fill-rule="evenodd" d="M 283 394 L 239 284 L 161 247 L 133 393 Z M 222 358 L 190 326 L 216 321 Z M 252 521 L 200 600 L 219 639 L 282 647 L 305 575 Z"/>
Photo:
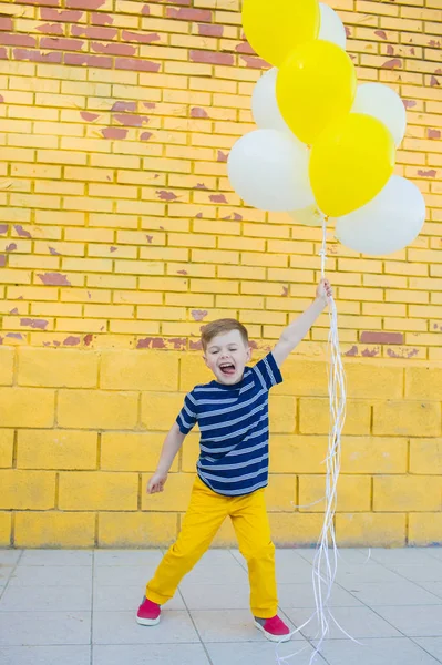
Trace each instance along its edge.
<path fill-rule="evenodd" d="M 296 48 L 280 68 L 276 83 L 284 120 L 309 145 L 328 124 L 350 113 L 356 90 L 350 57 L 323 40 Z"/>

